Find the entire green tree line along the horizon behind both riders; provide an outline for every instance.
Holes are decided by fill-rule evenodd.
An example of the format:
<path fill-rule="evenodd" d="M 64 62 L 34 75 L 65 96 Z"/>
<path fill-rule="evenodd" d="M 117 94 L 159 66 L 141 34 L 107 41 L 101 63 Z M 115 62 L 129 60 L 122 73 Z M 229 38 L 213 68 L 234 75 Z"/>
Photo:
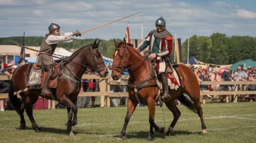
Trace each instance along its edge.
<path fill-rule="evenodd" d="M 26 46 L 40 47 L 44 37 L 26 36 Z M 71 43 L 58 43 L 58 47 L 66 50 L 79 49 L 86 45 L 92 44 L 96 39 L 73 39 Z M 104 39 L 99 43 L 99 50 L 101 54 L 108 58 L 112 58 L 114 52 L 114 41 Z M 181 39 L 182 41 L 183 39 Z M 9 37 L 0 38 L 0 45 L 10 45 L 10 43 L 18 43 L 21 45 L 23 37 Z M 116 41 L 123 41 L 123 39 L 116 39 Z M 171 59 L 174 58 L 174 42 Z M 182 60 L 187 60 L 188 57 L 188 39 L 181 45 Z M 256 39 L 250 36 L 231 36 L 227 37 L 225 34 L 214 33 L 211 36 L 196 36 L 189 38 L 189 58 L 195 56 L 197 60 L 205 63 L 214 63 L 217 65 L 233 64 L 241 60 L 251 59 L 256 61 Z"/>

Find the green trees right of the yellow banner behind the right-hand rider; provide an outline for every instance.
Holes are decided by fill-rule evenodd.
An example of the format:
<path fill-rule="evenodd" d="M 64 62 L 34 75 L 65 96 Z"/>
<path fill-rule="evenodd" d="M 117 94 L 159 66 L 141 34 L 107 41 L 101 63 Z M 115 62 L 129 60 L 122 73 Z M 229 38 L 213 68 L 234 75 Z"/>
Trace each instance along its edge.
<path fill-rule="evenodd" d="M 188 39 L 182 43 L 183 60 L 188 55 Z M 228 65 L 241 60 L 256 61 L 256 39 L 250 36 L 231 36 L 214 33 L 210 37 L 192 36 L 189 38 L 189 57 L 217 65 Z"/>

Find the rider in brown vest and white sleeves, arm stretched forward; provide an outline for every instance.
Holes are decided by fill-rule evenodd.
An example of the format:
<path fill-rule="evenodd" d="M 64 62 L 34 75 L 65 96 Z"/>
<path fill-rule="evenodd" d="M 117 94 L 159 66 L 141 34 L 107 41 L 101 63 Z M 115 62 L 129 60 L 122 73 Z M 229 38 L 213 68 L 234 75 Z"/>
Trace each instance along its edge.
<path fill-rule="evenodd" d="M 48 27 L 48 30 L 49 33 L 45 35 L 45 38 L 42 41 L 36 63 L 37 66 L 43 67 L 42 69 L 47 72 L 41 93 L 42 96 L 51 96 L 48 83 L 51 76 L 54 74 L 55 62 L 53 61 L 52 54 L 57 47 L 57 43 L 71 42 L 73 41 L 73 36 L 81 36 L 81 33 L 78 30 L 60 35 L 60 26 L 55 23 L 51 23 L 51 25 Z"/>

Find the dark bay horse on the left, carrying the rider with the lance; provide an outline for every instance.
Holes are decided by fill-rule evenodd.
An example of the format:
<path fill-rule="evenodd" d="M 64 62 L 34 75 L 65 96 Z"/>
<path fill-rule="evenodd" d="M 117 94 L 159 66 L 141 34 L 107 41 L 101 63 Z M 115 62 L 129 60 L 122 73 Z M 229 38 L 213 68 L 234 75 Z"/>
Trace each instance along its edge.
<path fill-rule="evenodd" d="M 65 124 L 70 135 L 73 135 L 71 126 L 77 124 L 77 95 L 81 89 L 81 78 L 89 67 L 92 71 L 96 71 L 99 76 L 105 77 L 109 74 L 107 67 L 103 61 L 101 52 L 97 48 L 99 42 L 96 40 L 91 45 L 86 45 L 81 49 L 73 52 L 70 57 L 64 57 L 59 65 L 63 65 L 62 69 L 58 72 L 57 88 L 51 88 L 53 99 L 51 96 L 47 99 L 57 100 L 60 104 L 66 105 L 68 110 L 68 122 Z M 32 64 L 25 64 L 18 67 L 12 75 L 10 81 L 10 91 L 8 93 L 10 99 L 10 105 L 16 110 L 21 118 L 20 129 L 25 129 L 26 123 L 24 119 L 24 111 L 29 116 L 29 120 L 32 124 L 32 129 L 36 133 L 40 133 L 41 129 L 36 124 L 32 115 L 32 105 L 36 103 L 42 89 L 29 89 L 23 93 L 19 93 L 21 101 L 17 95 L 14 95 L 14 91 L 20 91 L 27 88 L 29 80 L 29 73 L 31 71 Z M 45 98 L 45 97 L 43 97 Z"/>

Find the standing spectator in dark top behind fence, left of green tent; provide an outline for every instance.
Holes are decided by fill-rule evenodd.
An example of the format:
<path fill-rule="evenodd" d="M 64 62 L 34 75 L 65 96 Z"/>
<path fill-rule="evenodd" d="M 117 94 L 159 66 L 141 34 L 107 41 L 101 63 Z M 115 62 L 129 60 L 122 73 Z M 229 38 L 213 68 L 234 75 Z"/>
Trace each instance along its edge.
<path fill-rule="evenodd" d="M 231 81 L 231 77 L 230 77 L 230 67 L 226 67 L 224 72 L 222 72 L 222 81 Z M 233 80 L 232 80 L 233 81 Z M 229 91 L 229 86 L 230 85 L 220 85 L 220 91 Z M 222 102 L 224 101 L 225 98 L 225 102 L 229 103 L 229 95 L 222 95 Z"/>

